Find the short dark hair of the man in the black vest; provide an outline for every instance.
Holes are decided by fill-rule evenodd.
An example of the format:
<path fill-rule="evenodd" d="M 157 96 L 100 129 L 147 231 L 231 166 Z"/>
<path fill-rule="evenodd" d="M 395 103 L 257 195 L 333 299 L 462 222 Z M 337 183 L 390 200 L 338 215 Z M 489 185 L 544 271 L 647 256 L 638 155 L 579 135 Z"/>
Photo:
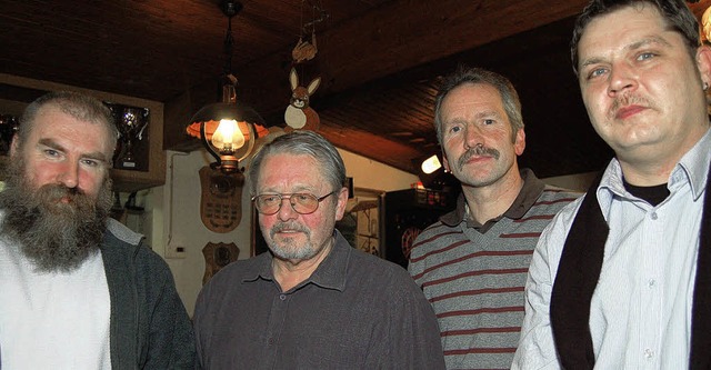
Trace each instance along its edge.
<path fill-rule="evenodd" d="M 695 58 L 695 50 L 701 46 L 699 22 L 687 7 L 684 0 L 592 0 L 578 16 L 573 28 L 573 37 L 570 41 L 570 57 L 573 62 L 573 72 L 578 76 L 578 44 L 585 27 L 595 18 L 609 14 L 627 7 L 653 6 L 662 14 L 669 30 L 679 32 L 687 41 L 691 58 Z"/>

